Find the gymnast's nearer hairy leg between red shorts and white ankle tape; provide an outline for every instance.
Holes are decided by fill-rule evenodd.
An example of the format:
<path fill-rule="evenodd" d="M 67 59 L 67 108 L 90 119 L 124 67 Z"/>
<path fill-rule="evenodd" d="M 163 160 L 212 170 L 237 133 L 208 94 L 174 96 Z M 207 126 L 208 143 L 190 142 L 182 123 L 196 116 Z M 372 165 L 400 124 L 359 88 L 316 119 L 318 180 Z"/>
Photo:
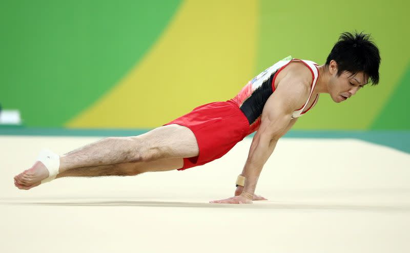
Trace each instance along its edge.
<path fill-rule="evenodd" d="M 199 154 L 192 131 L 172 124 L 133 137 L 109 137 L 60 157 L 59 172 L 126 162 L 194 157 Z"/>

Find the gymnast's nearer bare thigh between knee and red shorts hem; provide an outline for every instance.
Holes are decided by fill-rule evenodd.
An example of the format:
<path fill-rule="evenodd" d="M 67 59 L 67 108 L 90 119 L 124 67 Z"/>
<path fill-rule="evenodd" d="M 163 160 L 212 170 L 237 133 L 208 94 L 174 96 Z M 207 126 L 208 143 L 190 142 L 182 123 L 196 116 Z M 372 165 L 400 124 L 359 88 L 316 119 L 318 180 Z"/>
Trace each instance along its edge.
<path fill-rule="evenodd" d="M 178 124 L 165 125 L 132 138 L 141 144 L 139 146 L 142 154 L 155 153 L 153 157 L 155 161 L 195 157 L 199 154 L 194 133 L 189 128 Z"/>

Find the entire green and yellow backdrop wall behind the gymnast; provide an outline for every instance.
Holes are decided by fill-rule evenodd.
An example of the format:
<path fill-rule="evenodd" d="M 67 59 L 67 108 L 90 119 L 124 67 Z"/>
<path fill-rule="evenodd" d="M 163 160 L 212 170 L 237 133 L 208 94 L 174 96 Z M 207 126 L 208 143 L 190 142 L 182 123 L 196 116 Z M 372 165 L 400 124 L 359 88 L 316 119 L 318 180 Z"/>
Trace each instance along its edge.
<path fill-rule="evenodd" d="M 288 55 L 323 64 L 341 32 L 363 30 L 381 52 L 380 84 L 346 103 L 321 95 L 295 128 L 408 130 L 409 7 L 368 0 L 2 1 L 0 103 L 19 109 L 29 127 L 152 128 L 233 97 Z"/>

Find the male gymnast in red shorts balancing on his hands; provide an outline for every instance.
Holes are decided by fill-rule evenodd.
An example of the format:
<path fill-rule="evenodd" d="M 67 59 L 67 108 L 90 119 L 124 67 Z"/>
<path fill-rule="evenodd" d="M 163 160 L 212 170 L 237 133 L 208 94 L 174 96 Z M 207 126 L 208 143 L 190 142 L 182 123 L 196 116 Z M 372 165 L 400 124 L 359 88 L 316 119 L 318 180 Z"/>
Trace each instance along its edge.
<path fill-rule="evenodd" d="M 30 189 L 59 177 L 182 171 L 222 157 L 257 131 L 234 197 L 211 203 L 264 200 L 254 194 L 255 187 L 278 139 L 315 106 L 320 93 L 339 103 L 369 80 L 377 85 L 379 66 L 379 50 L 370 35 L 345 32 L 321 66 L 285 58 L 253 78 L 233 99 L 204 104 L 148 133 L 105 138 L 61 156 L 44 151 L 31 168 L 14 177 L 14 184 Z"/>

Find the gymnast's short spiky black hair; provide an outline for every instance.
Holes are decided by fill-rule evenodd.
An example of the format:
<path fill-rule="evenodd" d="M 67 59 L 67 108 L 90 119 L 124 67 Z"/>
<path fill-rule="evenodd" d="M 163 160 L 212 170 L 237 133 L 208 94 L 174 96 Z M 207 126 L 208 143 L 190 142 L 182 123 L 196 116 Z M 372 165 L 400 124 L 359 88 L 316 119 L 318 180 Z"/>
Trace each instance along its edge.
<path fill-rule="evenodd" d="M 380 52 L 370 34 L 356 31 L 354 34 L 342 33 L 327 56 L 326 66 L 329 66 L 331 60 L 337 62 L 338 76 L 344 71 L 352 74 L 363 71 L 372 85 L 379 83 Z"/>

